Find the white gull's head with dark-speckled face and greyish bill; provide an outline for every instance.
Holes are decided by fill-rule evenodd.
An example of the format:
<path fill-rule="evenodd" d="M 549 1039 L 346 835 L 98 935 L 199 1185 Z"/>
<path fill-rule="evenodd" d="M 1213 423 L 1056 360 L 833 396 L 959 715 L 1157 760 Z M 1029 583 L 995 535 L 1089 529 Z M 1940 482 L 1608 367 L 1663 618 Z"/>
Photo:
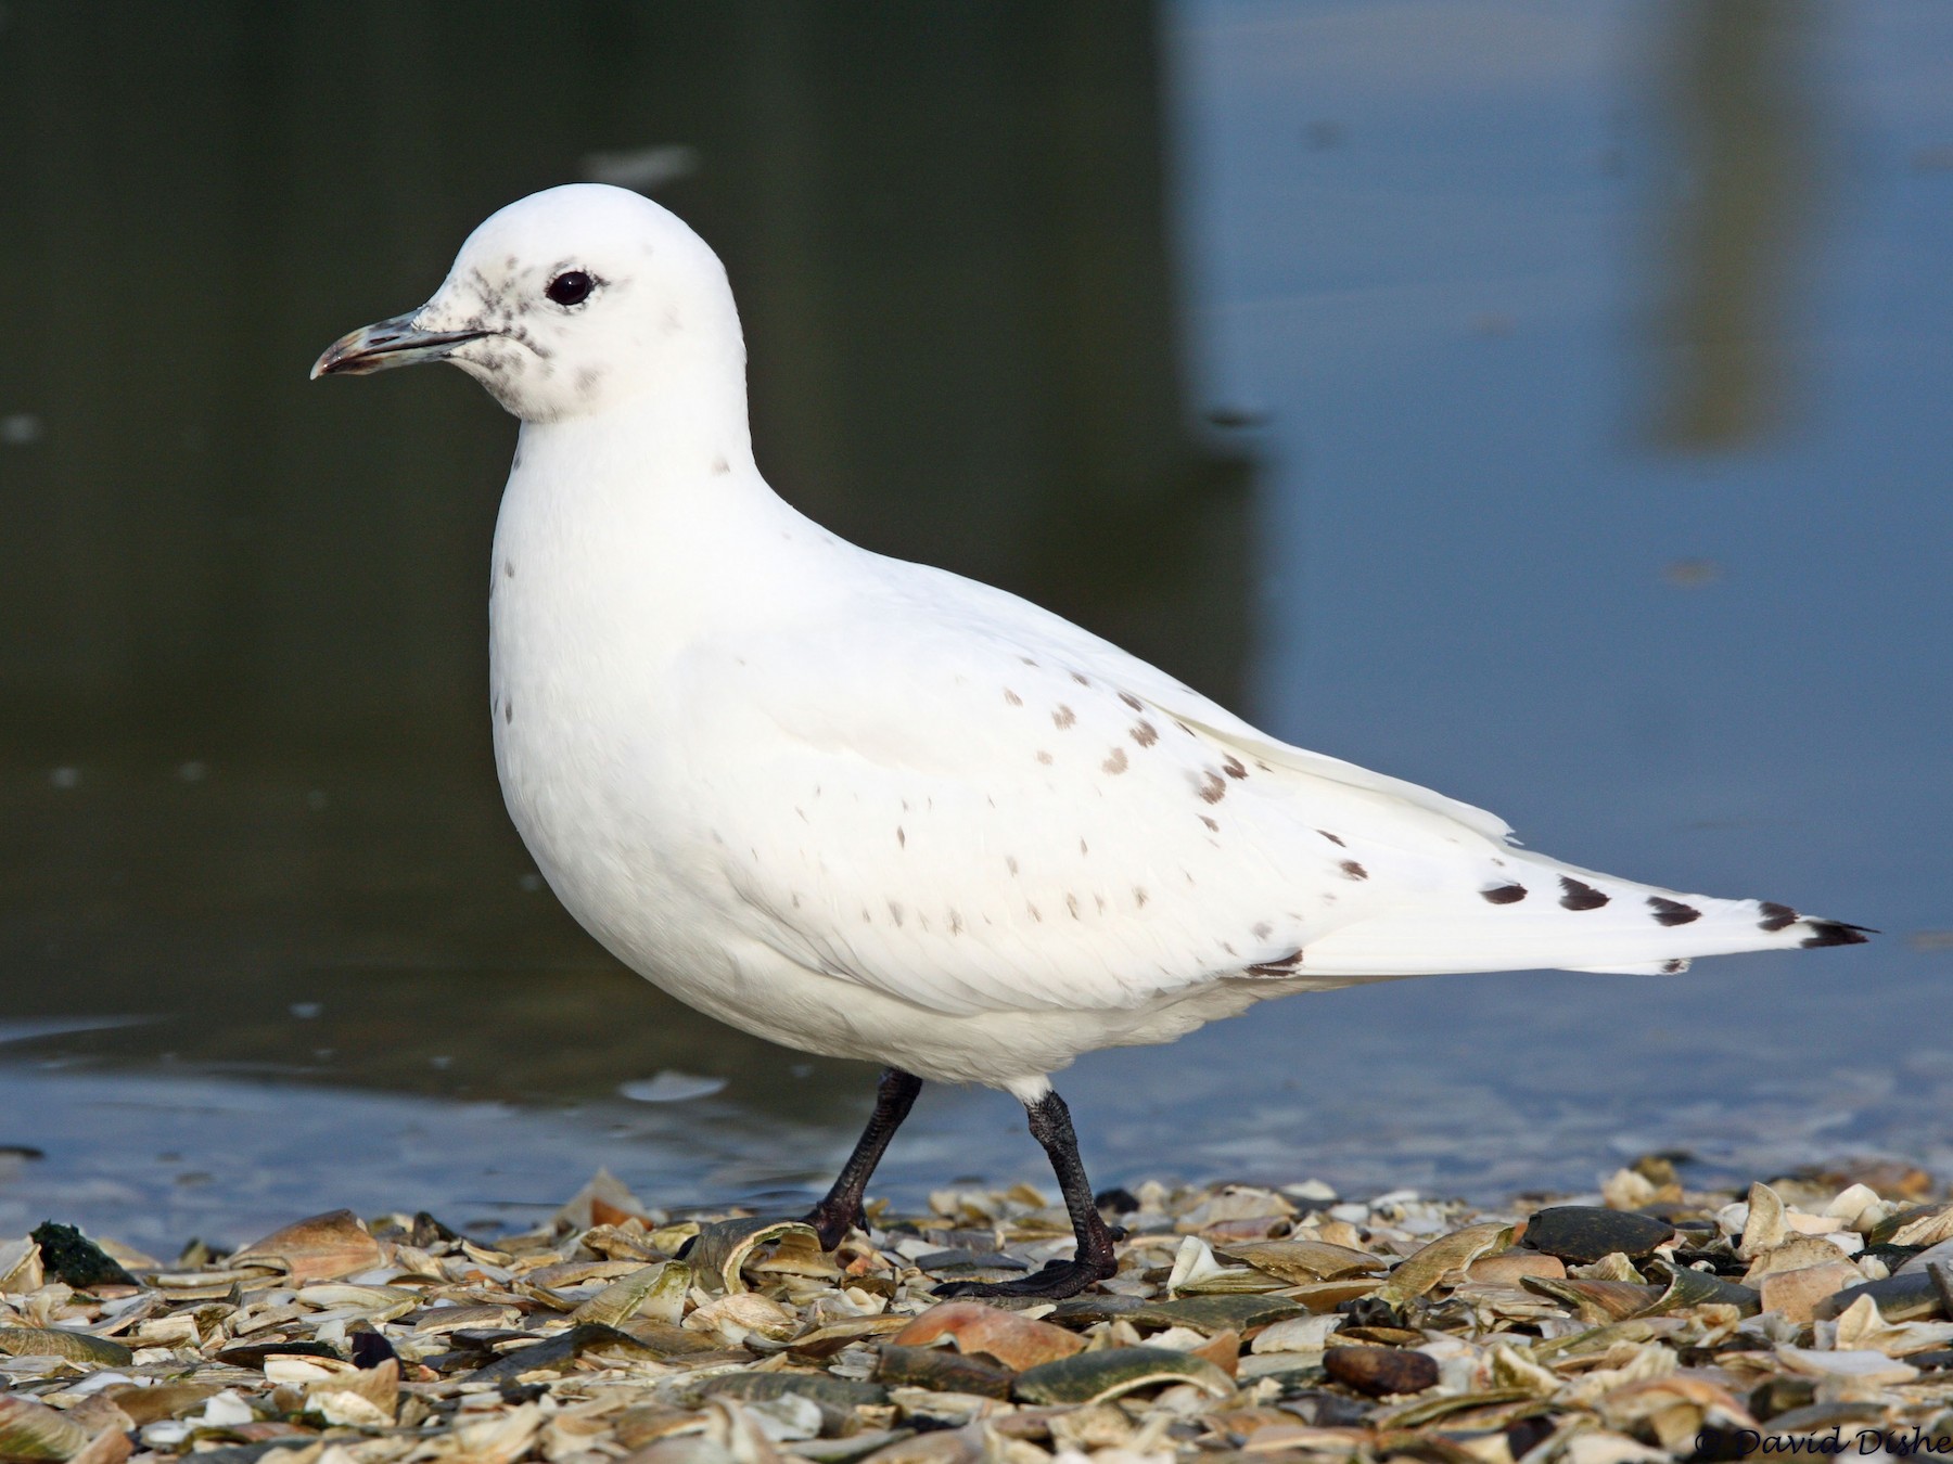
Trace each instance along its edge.
<path fill-rule="evenodd" d="M 742 373 L 744 346 L 705 240 L 639 193 L 568 183 L 490 215 L 434 299 L 342 336 L 312 377 L 418 361 L 453 361 L 523 422 L 562 422 Z"/>

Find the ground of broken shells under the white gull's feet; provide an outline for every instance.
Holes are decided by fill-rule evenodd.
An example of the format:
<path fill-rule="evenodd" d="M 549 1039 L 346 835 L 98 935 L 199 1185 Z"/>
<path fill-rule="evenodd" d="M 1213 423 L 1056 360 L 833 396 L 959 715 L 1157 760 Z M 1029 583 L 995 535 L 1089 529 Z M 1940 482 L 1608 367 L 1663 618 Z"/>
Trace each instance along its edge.
<path fill-rule="evenodd" d="M 943 1302 L 1070 1245 L 1033 1189 L 871 1206 L 822 1253 L 600 1175 L 549 1226 L 301 1220 L 160 1261 L 0 1241 L 0 1460 L 1508 1464 L 1953 1452 L 1953 1200 L 1875 1165 L 1695 1193 L 1144 1185 L 1119 1275 Z"/>

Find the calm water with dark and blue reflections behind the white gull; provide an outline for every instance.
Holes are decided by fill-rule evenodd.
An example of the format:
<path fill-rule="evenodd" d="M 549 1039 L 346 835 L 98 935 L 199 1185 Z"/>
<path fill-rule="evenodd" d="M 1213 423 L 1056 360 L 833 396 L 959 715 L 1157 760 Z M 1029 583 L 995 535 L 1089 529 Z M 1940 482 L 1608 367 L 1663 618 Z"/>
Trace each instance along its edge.
<path fill-rule="evenodd" d="M 705 1202 L 846 1152 L 867 1070 L 621 972 L 508 830 L 512 426 L 303 379 L 590 176 L 725 254 L 762 463 L 838 529 L 1547 851 L 1887 933 L 1100 1054 L 1096 1177 L 1953 1169 L 1949 68 L 1926 0 L 10 4 L 0 1144 L 43 1158 L 0 1234 L 523 1224 L 598 1163 Z M 889 1187 L 959 1175 L 1039 1177 L 1014 1103 L 924 1097 Z"/>

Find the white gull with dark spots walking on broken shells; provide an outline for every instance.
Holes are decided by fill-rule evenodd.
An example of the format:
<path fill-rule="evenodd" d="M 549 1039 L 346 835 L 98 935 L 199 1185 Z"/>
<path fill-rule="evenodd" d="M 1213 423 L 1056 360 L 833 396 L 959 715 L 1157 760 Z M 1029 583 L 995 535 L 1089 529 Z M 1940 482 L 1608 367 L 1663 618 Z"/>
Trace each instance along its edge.
<path fill-rule="evenodd" d="M 312 375 L 412 361 L 521 420 L 490 701 L 549 886 L 680 1001 L 889 1068 L 810 1216 L 828 1245 L 924 1079 L 1023 1101 L 1078 1232 L 1072 1261 L 961 1292 L 1068 1296 L 1115 1271 L 1049 1079 L 1080 1052 L 1353 982 L 1865 939 L 1529 853 L 1484 810 L 809 521 L 754 465 L 725 267 L 637 193 L 512 203 L 434 299 Z"/>

